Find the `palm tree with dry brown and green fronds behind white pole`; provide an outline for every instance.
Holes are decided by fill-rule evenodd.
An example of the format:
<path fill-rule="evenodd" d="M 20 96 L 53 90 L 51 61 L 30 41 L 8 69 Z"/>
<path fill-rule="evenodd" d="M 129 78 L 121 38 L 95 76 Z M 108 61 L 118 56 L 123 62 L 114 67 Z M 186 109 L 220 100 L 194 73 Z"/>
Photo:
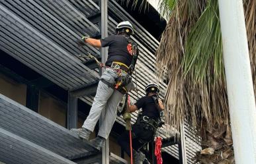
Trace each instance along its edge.
<path fill-rule="evenodd" d="M 243 3 L 256 89 L 256 1 Z M 196 162 L 234 163 L 218 1 L 161 0 L 160 7 L 169 20 L 156 52 L 159 77 L 169 80 L 166 122 L 179 129 L 186 120 L 199 132 Z"/>

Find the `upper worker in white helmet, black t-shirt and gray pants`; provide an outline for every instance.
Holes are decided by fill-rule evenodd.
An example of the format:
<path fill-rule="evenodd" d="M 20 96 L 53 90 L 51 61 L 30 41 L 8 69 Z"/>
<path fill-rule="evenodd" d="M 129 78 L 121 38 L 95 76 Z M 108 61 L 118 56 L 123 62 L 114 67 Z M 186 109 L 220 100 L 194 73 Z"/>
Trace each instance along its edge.
<path fill-rule="evenodd" d="M 136 45 L 130 39 L 132 34 L 134 34 L 132 24 L 125 21 L 120 22 L 116 26 L 116 35 L 108 36 L 101 40 L 83 37 L 82 41 L 78 43 L 79 46 L 89 43 L 93 47 L 108 47 L 106 68 L 99 81 L 89 115 L 82 128 L 71 129 L 73 132 L 77 132 L 84 140 L 89 140 L 89 136 L 93 132 L 97 121 L 101 119 L 99 133 L 95 139 L 90 141 L 99 150 L 105 145 L 105 141 L 116 119 L 116 107 L 124 95 L 120 90 L 112 87 L 112 84 L 116 84 L 116 79 L 120 78 L 120 76 L 127 77 L 130 67 L 135 65 L 134 56 L 137 54 L 134 54 L 134 46 Z M 138 53 L 137 48 L 136 53 Z M 130 80 L 122 89 L 126 89 L 126 92 L 128 92 L 132 88 L 131 86 L 132 82 Z"/>

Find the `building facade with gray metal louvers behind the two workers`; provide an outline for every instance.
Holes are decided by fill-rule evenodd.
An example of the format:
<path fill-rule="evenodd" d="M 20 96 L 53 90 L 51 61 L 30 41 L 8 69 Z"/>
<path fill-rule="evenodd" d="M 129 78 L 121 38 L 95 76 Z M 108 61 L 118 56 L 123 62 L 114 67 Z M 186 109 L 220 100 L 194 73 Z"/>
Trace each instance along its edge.
<path fill-rule="evenodd" d="M 108 35 L 115 33 L 118 22 L 129 20 L 135 29 L 132 40 L 138 43 L 141 52 L 133 78 L 138 92 L 133 91 L 130 96 L 134 101 L 144 96 L 144 88 L 153 80 L 160 84 L 163 98 L 167 84 L 156 80 L 154 53 L 166 23 L 151 6 L 142 13 L 120 1 L 108 1 L 105 9 L 101 9 L 101 1 L 93 0 L 0 2 L 1 162 L 127 163 L 130 160 L 116 142 L 124 131 L 121 117 L 116 118 L 103 152 L 91 148 L 68 130 L 83 124 L 99 82 L 95 61 L 79 55 L 91 53 L 101 60 L 103 54 L 91 46 L 79 48 L 76 41 L 85 34 L 101 38 L 104 14 Z M 132 122 L 136 115 L 132 116 Z M 192 163 L 194 152 L 200 150 L 198 140 L 184 128 L 183 144 L 176 144 L 171 142 L 173 132 L 167 133 L 166 128 L 159 131 L 163 138 L 163 163 L 184 163 L 184 160 Z M 153 143 L 145 152 L 149 161 L 155 163 Z"/>

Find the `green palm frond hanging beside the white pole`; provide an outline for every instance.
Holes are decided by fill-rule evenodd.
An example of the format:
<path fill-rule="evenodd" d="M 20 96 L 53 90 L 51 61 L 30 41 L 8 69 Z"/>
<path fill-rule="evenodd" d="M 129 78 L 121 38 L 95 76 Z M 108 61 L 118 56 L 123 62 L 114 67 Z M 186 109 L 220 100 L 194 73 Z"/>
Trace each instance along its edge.
<path fill-rule="evenodd" d="M 218 18 L 218 1 L 209 1 L 206 9 L 191 29 L 186 43 L 183 61 L 185 74 L 190 71 L 194 82 L 206 78 L 206 70 L 214 62 L 214 80 L 224 78 L 222 62 L 222 38 Z"/>

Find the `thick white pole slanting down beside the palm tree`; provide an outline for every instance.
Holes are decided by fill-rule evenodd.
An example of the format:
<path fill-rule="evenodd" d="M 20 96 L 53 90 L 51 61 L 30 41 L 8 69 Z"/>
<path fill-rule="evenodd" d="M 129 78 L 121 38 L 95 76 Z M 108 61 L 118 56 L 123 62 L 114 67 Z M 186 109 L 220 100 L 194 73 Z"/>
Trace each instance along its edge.
<path fill-rule="evenodd" d="M 236 164 L 256 163 L 256 109 L 242 0 L 218 0 Z"/>

